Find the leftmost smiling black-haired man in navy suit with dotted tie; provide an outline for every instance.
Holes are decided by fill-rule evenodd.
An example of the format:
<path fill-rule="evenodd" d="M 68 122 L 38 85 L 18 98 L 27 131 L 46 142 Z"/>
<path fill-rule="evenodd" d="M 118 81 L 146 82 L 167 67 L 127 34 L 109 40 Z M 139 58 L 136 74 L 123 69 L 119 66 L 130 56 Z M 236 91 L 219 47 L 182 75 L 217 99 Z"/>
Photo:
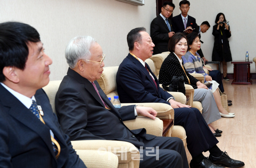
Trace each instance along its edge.
<path fill-rule="evenodd" d="M 41 89 L 50 64 L 36 29 L 0 24 L 1 168 L 86 168 Z"/>

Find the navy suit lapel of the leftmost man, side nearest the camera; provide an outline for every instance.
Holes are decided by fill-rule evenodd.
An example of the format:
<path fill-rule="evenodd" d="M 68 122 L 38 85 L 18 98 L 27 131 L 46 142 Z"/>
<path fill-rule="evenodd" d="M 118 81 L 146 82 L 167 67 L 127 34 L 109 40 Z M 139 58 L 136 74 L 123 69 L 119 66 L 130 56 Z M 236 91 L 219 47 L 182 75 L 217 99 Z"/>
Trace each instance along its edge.
<path fill-rule="evenodd" d="M 36 132 L 42 140 L 45 142 L 49 148 L 52 156 L 55 158 L 55 154 L 52 149 L 52 141 L 50 138 L 50 130 L 44 125 L 26 106 L 24 106 L 14 95 L 12 95 L 8 90 L 6 90 L 0 84 L 0 99 L 3 105 L 10 107 L 8 113 L 30 128 L 32 131 Z M 4 95 L 4 97 L 3 97 Z"/>

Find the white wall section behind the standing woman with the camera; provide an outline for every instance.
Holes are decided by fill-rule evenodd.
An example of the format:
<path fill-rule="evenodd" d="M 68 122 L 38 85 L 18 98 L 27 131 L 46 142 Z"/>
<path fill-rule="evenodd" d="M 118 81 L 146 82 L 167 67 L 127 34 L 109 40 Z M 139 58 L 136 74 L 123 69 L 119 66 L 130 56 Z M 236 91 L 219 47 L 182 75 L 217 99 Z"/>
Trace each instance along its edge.
<path fill-rule="evenodd" d="M 175 10 L 179 10 L 178 3 Z M 232 36 L 229 38 L 230 50 L 233 60 L 245 60 L 246 51 L 249 52 L 249 59 L 252 60 L 255 49 L 256 3 L 254 0 L 190 0 L 190 10 L 188 15 L 196 18 L 196 23 L 201 24 L 208 21 L 211 25 L 210 29 L 202 34 L 201 45 L 202 51 L 206 59 L 212 59 L 212 48 L 214 36 L 212 35 L 212 27 L 215 25 L 215 18 L 218 13 L 224 13 L 226 20 L 229 21 Z M 176 12 L 176 11 L 175 11 Z M 176 13 L 178 15 L 178 13 Z M 216 66 L 211 64 L 214 69 Z M 228 73 L 233 73 L 233 64 L 228 62 Z M 255 64 L 251 64 L 251 73 L 255 73 Z"/>

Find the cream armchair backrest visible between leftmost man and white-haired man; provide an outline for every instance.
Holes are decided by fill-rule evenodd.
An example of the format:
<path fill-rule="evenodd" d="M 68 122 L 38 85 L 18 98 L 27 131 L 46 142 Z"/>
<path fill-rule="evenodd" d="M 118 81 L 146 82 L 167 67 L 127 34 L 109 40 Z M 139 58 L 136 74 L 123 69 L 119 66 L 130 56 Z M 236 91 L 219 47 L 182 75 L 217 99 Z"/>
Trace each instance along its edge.
<path fill-rule="evenodd" d="M 61 82 L 62 82 L 62 80 L 60 80 L 60 81 L 50 81 L 48 85 L 43 87 L 45 93 L 49 97 L 50 104 L 52 105 L 52 111 L 55 114 L 56 114 L 56 111 L 55 111 L 55 96 L 56 96 L 56 93 L 57 93 L 57 91 L 60 87 Z"/>

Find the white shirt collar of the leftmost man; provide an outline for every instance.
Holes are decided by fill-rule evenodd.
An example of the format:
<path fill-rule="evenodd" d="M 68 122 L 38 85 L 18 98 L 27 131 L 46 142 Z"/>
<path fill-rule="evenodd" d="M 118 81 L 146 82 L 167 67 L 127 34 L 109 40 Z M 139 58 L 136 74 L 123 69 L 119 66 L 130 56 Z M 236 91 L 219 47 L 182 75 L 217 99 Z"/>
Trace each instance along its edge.
<path fill-rule="evenodd" d="M 26 108 L 29 109 L 31 107 L 32 100 L 36 101 L 36 98 L 34 96 L 32 96 L 32 98 L 26 97 L 25 95 L 22 95 L 16 91 L 14 91 L 13 89 L 6 86 L 2 82 L 0 82 L 0 83 L 2 84 L 3 87 L 5 87 L 5 89 L 7 89 L 12 95 L 14 95 L 24 106 L 26 106 Z"/>

